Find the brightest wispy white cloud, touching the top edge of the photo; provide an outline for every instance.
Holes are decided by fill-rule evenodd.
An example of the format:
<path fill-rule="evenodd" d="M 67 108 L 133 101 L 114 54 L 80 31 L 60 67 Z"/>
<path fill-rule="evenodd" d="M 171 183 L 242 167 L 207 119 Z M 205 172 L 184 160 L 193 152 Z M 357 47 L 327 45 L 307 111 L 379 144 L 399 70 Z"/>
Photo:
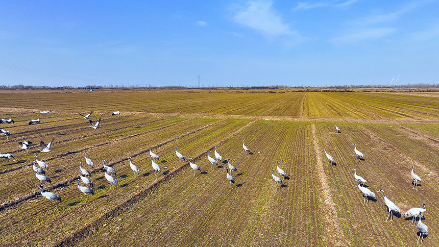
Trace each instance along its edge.
<path fill-rule="evenodd" d="M 233 20 L 264 35 L 290 35 L 292 32 L 272 8 L 273 2 L 266 0 L 249 1 L 240 7 Z"/>

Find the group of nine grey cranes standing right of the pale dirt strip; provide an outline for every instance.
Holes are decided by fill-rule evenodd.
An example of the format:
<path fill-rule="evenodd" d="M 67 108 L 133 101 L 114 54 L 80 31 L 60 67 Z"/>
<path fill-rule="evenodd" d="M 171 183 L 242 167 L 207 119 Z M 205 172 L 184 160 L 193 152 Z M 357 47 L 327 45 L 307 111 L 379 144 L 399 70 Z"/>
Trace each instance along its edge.
<path fill-rule="evenodd" d="M 341 132 L 340 128 L 337 125 L 335 125 L 335 130 L 337 131 L 337 133 Z M 326 158 L 328 159 L 328 163 L 331 164 L 331 165 L 333 163 L 335 163 L 334 157 L 329 155 L 326 152 L 326 150 L 323 150 L 323 151 L 325 151 Z M 364 155 L 363 155 L 363 153 L 361 153 L 360 151 L 357 150 L 357 145 L 356 144 L 354 144 L 354 152 L 357 155 L 358 161 L 364 160 Z M 414 169 L 414 167 L 411 166 L 411 178 L 413 179 L 412 180 L 413 189 L 418 190 L 418 184 L 421 182 L 421 178 L 418 175 L 414 174 L 413 169 Z M 358 182 L 358 188 L 360 189 L 361 193 L 363 193 L 363 197 L 364 197 L 363 205 L 366 204 L 366 202 L 369 204 L 368 197 L 372 198 L 372 199 L 375 199 L 375 193 L 372 192 L 367 187 L 364 187 L 364 183 L 366 183 L 367 181 L 365 179 L 363 179 L 361 176 L 357 175 L 357 170 L 355 168 L 352 169 L 352 170 L 354 171 L 354 178 Z M 363 184 L 363 186 L 361 186 L 361 183 Z M 400 207 L 396 206 L 395 203 L 393 203 L 391 200 L 389 200 L 387 198 L 387 196 L 384 194 L 384 190 L 383 189 L 380 189 L 380 190 L 378 190 L 376 192 L 382 192 L 383 193 L 384 203 L 387 206 L 387 210 L 388 210 L 388 215 L 387 215 L 386 221 L 389 218 L 391 219 L 391 221 L 393 221 L 393 214 L 394 214 L 394 212 L 396 214 L 400 214 L 401 213 Z M 418 224 L 416 224 L 416 228 L 417 228 L 418 232 L 420 233 L 417 242 L 419 242 L 419 239 L 422 237 L 421 238 L 421 245 L 422 245 L 422 240 L 428 234 L 428 227 L 427 227 L 427 225 L 425 225 L 421 221 L 421 216 L 424 216 L 422 213 L 424 213 L 426 211 L 424 203 L 422 204 L 422 206 L 423 206 L 423 208 L 411 208 L 411 209 L 407 210 L 404 213 L 405 217 L 410 217 L 410 216 L 412 217 L 411 226 L 413 226 L 413 222 L 416 221 L 416 218 L 419 217 Z"/>

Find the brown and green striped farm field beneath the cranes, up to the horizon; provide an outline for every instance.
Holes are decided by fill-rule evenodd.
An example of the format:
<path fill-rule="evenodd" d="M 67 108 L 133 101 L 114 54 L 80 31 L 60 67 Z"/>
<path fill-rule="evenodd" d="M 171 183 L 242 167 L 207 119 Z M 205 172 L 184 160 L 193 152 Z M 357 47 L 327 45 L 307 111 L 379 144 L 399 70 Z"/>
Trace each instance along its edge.
<path fill-rule="evenodd" d="M 52 112 L 34 113 L 43 110 Z M 91 111 L 99 129 L 79 115 Z M 14 156 L 0 159 L 0 246 L 417 246 L 403 214 L 422 203 L 423 245 L 439 245 L 435 93 L 0 91 L 0 118 L 15 121 L 0 124 L 11 133 L 0 136 L 0 153 Z M 51 152 L 37 150 L 52 139 Z M 29 151 L 18 146 L 25 140 Z M 223 160 L 212 167 L 206 151 L 214 157 L 214 146 Z M 59 211 L 40 194 L 35 155 L 49 166 L 44 190 L 61 196 Z M 195 176 L 189 157 L 201 167 Z M 237 167 L 231 188 L 227 158 Z M 117 186 L 105 179 L 103 160 L 117 170 Z M 282 186 L 271 176 L 274 168 L 281 177 L 277 161 L 287 174 Z M 87 200 L 77 187 L 80 162 L 92 172 Z M 411 166 L 422 178 L 418 190 Z M 376 194 L 368 205 L 354 168 Z M 401 208 L 393 221 L 385 221 L 379 189 Z"/>

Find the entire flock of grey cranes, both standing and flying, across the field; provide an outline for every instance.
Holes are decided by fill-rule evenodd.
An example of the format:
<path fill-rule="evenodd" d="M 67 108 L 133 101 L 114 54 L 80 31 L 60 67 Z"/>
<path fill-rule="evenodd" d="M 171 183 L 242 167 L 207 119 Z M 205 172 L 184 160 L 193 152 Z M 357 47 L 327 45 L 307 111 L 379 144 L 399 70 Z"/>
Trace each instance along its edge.
<path fill-rule="evenodd" d="M 41 111 L 41 112 L 34 112 L 34 113 L 36 113 L 36 114 L 49 114 L 50 112 L 52 112 L 52 111 Z M 93 121 L 91 119 L 89 119 L 91 114 L 92 114 L 92 112 L 90 112 L 87 115 L 82 115 L 80 113 L 81 117 L 83 117 L 84 119 L 89 120 L 89 123 L 91 125 L 89 127 L 93 128 L 93 129 L 98 129 L 99 125 L 100 125 L 100 122 L 101 122 L 101 118 L 93 123 Z M 116 111 L 116 112 L 112 113 L 112 115 L 118 115 L 118 114 L 120 114 L 119 111 Z M 11 118 L 9 120 L 3 119 L 3 118 L 0 119 L 0 124 L 13 124 L 14 122 L 15 121 L 12 120 Z M 39 118 L 38 119 L 31 119 L 31 121 L 29 122 L 29 125 L 32 125 L 35 122 L 39 123 L 40 119 Z M 337 133 L 341 132 L 340 128 L 337 125 L 335 125 L 335 129 L 336 129 Z M 1 130 L 1 133 L 4 134 L 7 137 L 9 135 L 11 135 L 11 133 L 9 131 L 5 131 L 3 129 Z M 41 149 L 38 149 L 38 151 L 44 152 L 44 153 L 51 152 L 52 151 L 51 150 L 51 146 L 52 146 L 53 141 L 54 141 L 54 139 L 52 139 L 47 144 L 45 144 L 43 141 L 40 141 Z M 20 145 L 21 149 L 28 150 L 29 147 L 32 145 L 32 142 L 31 141 L 20 141 L 19 145 Z M 176 155 L 179 158 L 179 163 L 181 164 L 181 160 L 185 161 L 186 158 L 185 158 L 184 155 L 182 155 L 178 151 L 178 146 L 176 146 L 175 148 L 176 148 Z M 217 153 L 217 147 L 215 146 L 214 148 L 215 148 L 215 151 L 214 151 L 215 158 L 210 157 L 209 151 L 207 151 L 207 159 L 211 163 L 211 168 L 214 168 L 214 165 L 217 166 L 218 165 L 218 161 L 221 162 L 223 160 L 223 157 L 220 154 Z M 250 149 L 245 145 L 245 141 L 242 142 L 242 148 L 243 148 L 246 156 L 247 156 L 247 153 L 251 153 Z M 326 157 L 328 159 L 328 163 L 331 164 L 331 165 L 333 163 L 335 163 L 335 159 L 331 155 L 329 155 L 326 152 L 325 149 L 323 151 L 326 154 Z M 357 155 L 358 161 L 364 160 L 364 155 L 360 151 L 357 150 L 357 145 L 356 144 L 354 144 L 354 152 Z M 87 154 L 84 154 L 84 155 L 85 155 L 85 163 L 92 167 L 93 166 L 93 162 L 89 158 L 87 158 Z M 13 156 L 11 154 L 1 154 L 0 153 L 0 158 L 9 159 L 9 158 L 13 158 Z M 154 162 L 154 160 L 155 159 L 156 160 L 160 160 L 160 157 L 159 157 L 159 155 L 157 155 L 157 154 L 152 152 L 152 147 L 151 146 L 150 146 L 150 158 L 151 158 L 152 167 L 153 167 L 154 171 L 156 172 L 156 176 L 157 176 L 157 174 L 160 174 L 161 169 L 160 169 L 159 165 L 156 162 Z M 131 157 L 129 157 L 128 159 L 130 160 L 130 163 L 129 163 L 130 167 L 134 171 L 134 176 L 136 176 L 136 174 L 138 175 L 139 172 L 140 172 L 138 167 L 132 163 L 132 158 Z M 201 168 L 200 168 L 200 166 L 198 166 L 197 164 L 194 164 L 192 162 L 192 158 L 189 158 L 189 159 L 190 159 L 189 166 L 193 169 L 193 172 L 194 172 L 193 173 L 193 177 L 195 177 L 196 176 L 196 171 L 199 170 L 201 172 Z M 231 188 L 232 183 L 235 182 L 235 178 L 231 175 L 231 172 L 232 171 L 236 172 L 237 168 L 235 166 L 233 166 L 232 164 L 230 164 L 229 159 L 226 159 L 226 161 L 228 163 L 228 167 L 224 167 L 226 169 L 226 179 L 230 183 L 229 184 L 229 188 Z M 37 167 L 35 164 L 38 164 L 39 167 Z M 46 170 L 48 170 L 48 169 L 49 169 L 48 165 L 45 162 L 43 162 L 41 160 L 38 160 L 38 156 L 35 155 L 35 160 L 33 161 L 33 170 L 35 171 L 36 178 L 41 181 L 41 185 L 40 185 L 41 191 L 40 191 L 40 193 L 46 199 L 50 200 L 51 209 L 52 209 L 52 201 L 54 201 L 55 204 L 56 204 L 57 210 L 58 210 L 58 203 L 57 203 L 57 201 L 61 202 L 61 197 L 59 195 L 53 193 L 53 192 L 44 192 L 44 182 L 48 182 L 48 183 L 52 182 L 49 177 L 45 176 Z M 230 169 L 230 172 L 229 172 L 229 169 Z M 421 178 L 418 175 L 413 173 L 413 169 L 414 169 L 414 167 L 411 166 L 411 177 L 413 179 L 413 189 L 418 190 L 418 183 L 421 182 Z M 117 186 L 117 179 L 113 177 L 114 175 L 116 175 L 116 170 L 113 167 L 107 166 L 105 160 L 103 160 L 103 170 L 104 170 L 105 178 L 110 183 L 110 185 L 111 186 L 113 186 L 113 185 Z M 367 181 L 365 179 L 363 179 L 362 177 L 357 175 L 356 169 L 354 168 L 352 170 L 354 170 L 354 178 L 358 182 L 358 188 L 360 189 L 360 191 L 361 191 L 361 193 L 363 194 L 363 197 L 364 197 L 363 205 L 365 205 L 366 203 L 369 204 L 369 198 L 375 199 L 376 195 L 370 189 L 368 189 L 367 187 L 364 187 L 364 183 L 366 183 Z M 272 175 L 273 180 L 276 182 L 276 184 L 280 184 L 280 187 L 282 187 L 283 180 L 281 178 L 277 177 L 274 174 L 274 171 L 275 171 L 274 169 L 271 169 L 271 171 L 272 171 L 271 175 Z M 279 162 L 277 162 L 277 171 L 278 171 L 279 175 L 284 177 L 284 179 L 286 178 L 286 176 L 287 176 L 286 172 L 283 171 L 279 167 Z M 92 177 L 92 174 L 86 168 L 82 167 L 82 162 L 80 162 L 80 172 L 81 172 L 80 173 L 80 179 L 77 179 L 77 181 L 78 181 L 78 189 L 82 193 L 84 193 L 85 200 L 87 200 L 87 194 L 92 194 L 92 195 L 94 194 L 94 191 L 91 188 L 91 187 L 93 187 L 93 182 L 90 179 Z M 81 186 L 80 185 L 81 181 L 86 186 Z M 384 190 L 383 189 L 380 189 L 377 192 L 382 192 L 383 193 L 384 203 L 385 203 L 385 205 L 387 206 L 387 209 L 388 209 L 388 215 L 387 215 L 386 221 L 389 218 L 391 219 L 391 221 L 393 221 L 393 214 L 394 214 L 394 212 L 397 213 L 397 214 L 400 214 L 400 208 L 398 206 L 396 206 L 391 200 L 389 200 L 386 197 L 386 195 L 384 194 Z M 421 221 L 421 216 L 423 216 L 422 213 L 424 213 L 426 211 L 425 204 L 422 204 L 422 205 L 423 205 L 423 208 L 412 208 L 412 209 L 410 209 L 410 210 L 408 210 L 408 211 L 406 211 L 404 213 L 404 216 L 407 216 L 407 217 L 408 216 L 412 216 L 412 225 L 416 221 L 416 217 L 419 217 L 418 223 L 416 224 L 416 228 L 420 232 L 420 235 L 419 235 L 419 238 L 418 238 L 417 242 L 419 242 L 420 238 L 422 237 L 421 244 L 422 244 L 422 240 L 424 239 L 424 237 L 428 234 L 428 227 L 425 224 L 423 224 L 422 221 Z"/>

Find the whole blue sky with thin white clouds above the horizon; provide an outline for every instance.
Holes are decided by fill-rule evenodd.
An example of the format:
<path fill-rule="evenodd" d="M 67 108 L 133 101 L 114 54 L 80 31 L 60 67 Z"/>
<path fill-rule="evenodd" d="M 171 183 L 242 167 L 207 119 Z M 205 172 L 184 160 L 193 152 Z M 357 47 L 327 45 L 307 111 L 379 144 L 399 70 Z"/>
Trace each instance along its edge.
<path fill-rule="evenodd" d="M 437 1 L 0 2 L 0 85 L 439 83 Z"/>

